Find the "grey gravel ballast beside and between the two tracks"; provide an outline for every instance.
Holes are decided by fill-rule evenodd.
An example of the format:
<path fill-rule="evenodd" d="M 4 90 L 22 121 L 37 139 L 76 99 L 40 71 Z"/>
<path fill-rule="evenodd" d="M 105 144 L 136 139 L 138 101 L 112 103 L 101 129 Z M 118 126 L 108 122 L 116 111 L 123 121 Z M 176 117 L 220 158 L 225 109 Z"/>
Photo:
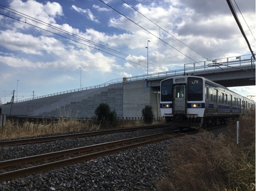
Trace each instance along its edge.
<path fill-rule="evenodd" d="M 174 130 L 174 127 L 3 147 L 0 148 L 0 157 L 1 160 L 7 160 L 171 130 Z M 218 134 L 223 130 L 215 131 Z M 154 191 L 157 189 L 156 181 L 169 170 L 165 163 L 168 161 L 166 151 L 171 142 L 172 140 L 168 140 L 145 145 L 83 163 L 31 174 L 24 178 L 6 180 L 0 184 L 0 190 Z"/>

